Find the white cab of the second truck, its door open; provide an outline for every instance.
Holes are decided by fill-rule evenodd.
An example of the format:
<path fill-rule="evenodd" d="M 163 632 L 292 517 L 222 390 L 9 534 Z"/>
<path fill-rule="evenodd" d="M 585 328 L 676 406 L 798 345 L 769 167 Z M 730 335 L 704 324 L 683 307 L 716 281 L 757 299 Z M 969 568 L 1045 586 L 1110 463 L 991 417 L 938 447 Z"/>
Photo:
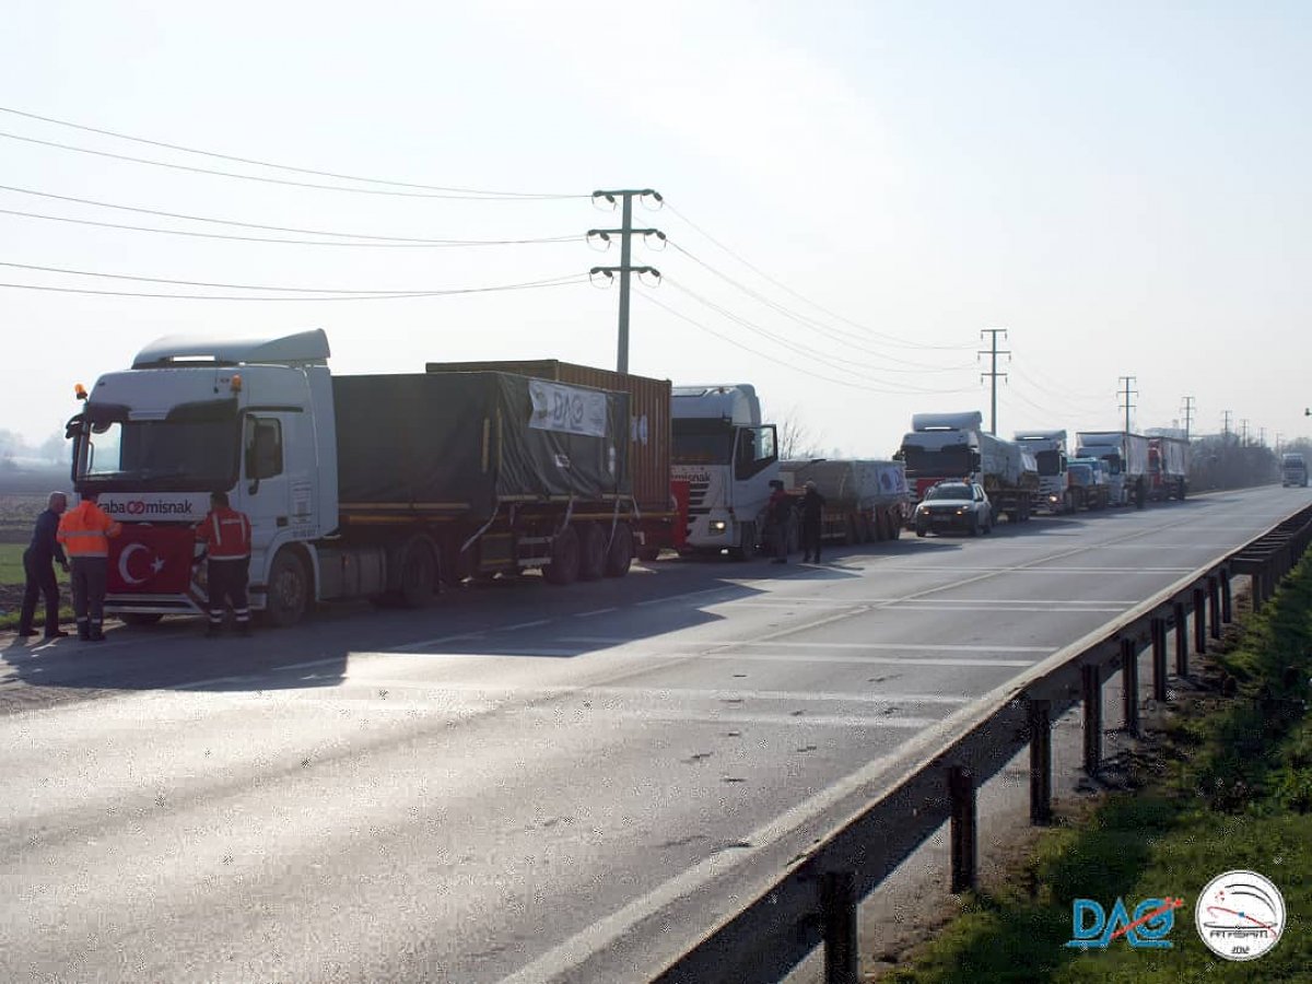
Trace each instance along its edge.
<path fill-rule="evenodd" d="M 770 482 L 779 478 L 774 424 L 748 383 L 673 388 L 670 471 L 687 483 L 684 552 L 749 556 L 760 541 Z"/>

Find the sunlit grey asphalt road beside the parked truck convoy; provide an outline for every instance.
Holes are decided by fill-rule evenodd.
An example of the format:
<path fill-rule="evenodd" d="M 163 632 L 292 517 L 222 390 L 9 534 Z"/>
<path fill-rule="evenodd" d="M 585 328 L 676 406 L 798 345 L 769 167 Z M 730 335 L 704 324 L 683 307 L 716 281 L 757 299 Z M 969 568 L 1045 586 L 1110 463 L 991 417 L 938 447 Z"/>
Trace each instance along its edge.
<path fill-rule="evenodd" d="M 903 743 L 1307 502 L 0 638 L 0 979 L 646 980 Z"/>

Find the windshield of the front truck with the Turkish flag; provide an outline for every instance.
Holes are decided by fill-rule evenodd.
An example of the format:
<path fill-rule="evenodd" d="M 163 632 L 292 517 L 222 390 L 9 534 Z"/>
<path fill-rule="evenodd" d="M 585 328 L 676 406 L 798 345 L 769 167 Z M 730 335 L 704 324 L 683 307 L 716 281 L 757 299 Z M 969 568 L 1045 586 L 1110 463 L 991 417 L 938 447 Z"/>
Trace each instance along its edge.
<path fill-rule="evenodd" d="M 171 415 L 172 416 L 172 415 Z M 102 420 L 77 436 L 79 485 L 113 491 L 202 491 L 236 480 L 237 421 L 228 404 L 169 420 Z"/>

